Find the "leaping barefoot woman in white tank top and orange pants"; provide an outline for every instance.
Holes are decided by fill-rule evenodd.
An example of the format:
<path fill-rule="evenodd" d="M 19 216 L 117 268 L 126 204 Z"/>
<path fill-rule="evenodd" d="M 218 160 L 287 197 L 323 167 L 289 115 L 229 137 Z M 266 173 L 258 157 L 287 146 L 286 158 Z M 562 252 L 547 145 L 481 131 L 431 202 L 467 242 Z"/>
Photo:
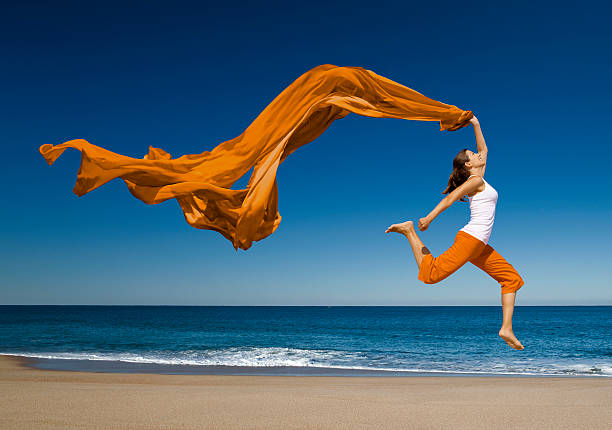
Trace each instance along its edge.
<path fill-rule="evenodd" d="M 464 149 L 453 160 L 453 173 L 443 194 L 448 194 L 425 218 L 419 220 L 419 230 L 425 231 L 429 224 L 442 211 L 457 200 L 470 202 L 470 222 L 457 232 L 455 242 L 438 257 L 433 257 L 423 245 L 414 229 L 412 221 L 391 225 L 385 233 L 397 232 L 408 238 L 417 266 L 418 278 L 426 284 L 435 284 L 457 271 L 468 261 L 487 272 L 501 285 L 503 323 L 499 336 L 514 349 L 523 349 L 512 332 L 512 313 L 516 291 L 524 284 L 523 279 L 501 255 L 488 244 L 495 218 L 497 192 L 484 180 L 487 166 L 487 145 L 485 144 L 480 123 L 474 116 L 470 122 L 474 126 L 478 153 Z"/>

